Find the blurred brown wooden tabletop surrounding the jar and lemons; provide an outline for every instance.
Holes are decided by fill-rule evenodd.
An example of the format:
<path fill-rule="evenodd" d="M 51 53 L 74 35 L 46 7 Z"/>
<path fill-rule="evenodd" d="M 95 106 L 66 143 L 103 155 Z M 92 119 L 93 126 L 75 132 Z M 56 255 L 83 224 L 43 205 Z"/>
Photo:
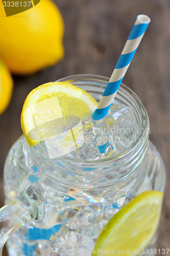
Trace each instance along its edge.
<path fill-rule="evenodd" d="M 3 167 L 7 153 L 22 134 L 20 113 L 28 93 L 48 81 L 75 74 L 110 76 L 138 14 L 151 17 L 124 78 L 149 114 L 151 141 L 166 167 L 166 191 L 158 248 L 169 248 L 170 236 L 170 2 L 168 0 L 55 0 L 65 23 L 65 57 L 57 65 L 31 76 L 14 76 L 14 91 L 0 117 L 0 206 L 4 204 Z M 169 252 L 170 254 L 170 252 Z M 4 254 L 6 250 L 4 250 Z"/>

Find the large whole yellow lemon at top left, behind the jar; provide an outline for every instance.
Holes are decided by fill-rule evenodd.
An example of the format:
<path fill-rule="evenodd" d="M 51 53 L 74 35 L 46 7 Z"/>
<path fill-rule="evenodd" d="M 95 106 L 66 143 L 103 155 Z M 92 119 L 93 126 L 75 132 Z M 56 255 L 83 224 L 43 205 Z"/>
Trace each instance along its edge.
<path fill-rule="evenodd" d="M 0 57 L 13 74 L 34 73 L 64 55 L 64 24 L 51 0 L 9 17 L 0 1 L 0 31 Z"/>

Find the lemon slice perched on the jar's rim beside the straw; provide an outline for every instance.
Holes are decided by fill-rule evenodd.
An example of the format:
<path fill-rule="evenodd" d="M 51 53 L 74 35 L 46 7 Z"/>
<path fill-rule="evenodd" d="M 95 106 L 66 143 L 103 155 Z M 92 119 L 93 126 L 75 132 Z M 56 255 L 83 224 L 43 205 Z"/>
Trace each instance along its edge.
<path fill-rule="evenodd" d="M 29 93 L 23 104 L 23 134 L 30 146 L 34 146 L 55 133 L 62 133 L 66 119 L 70 122 L 68 117 L 76 123 L 92 115 L 97 105 L 90 94 L 67 82 L 42 84 Z"/>

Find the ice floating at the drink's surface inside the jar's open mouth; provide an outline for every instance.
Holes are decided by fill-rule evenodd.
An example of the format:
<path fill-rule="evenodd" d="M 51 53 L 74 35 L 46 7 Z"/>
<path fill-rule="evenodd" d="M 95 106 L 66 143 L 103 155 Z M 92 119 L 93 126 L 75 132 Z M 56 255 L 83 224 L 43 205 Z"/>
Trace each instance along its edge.
<path fill-rule="evenodd" d="M 112 105 L 102 123 L 87 117 L 74 129 L 74 132 L 65 131 L 58 135 L 54 142 L 52 138 L 50 143 L 56 151 L 64 152 L 58 152 L 58 155 L 91 161 L 124 152 L 136 140 L 138 132 L 133 109 L 123 104 Z"/>

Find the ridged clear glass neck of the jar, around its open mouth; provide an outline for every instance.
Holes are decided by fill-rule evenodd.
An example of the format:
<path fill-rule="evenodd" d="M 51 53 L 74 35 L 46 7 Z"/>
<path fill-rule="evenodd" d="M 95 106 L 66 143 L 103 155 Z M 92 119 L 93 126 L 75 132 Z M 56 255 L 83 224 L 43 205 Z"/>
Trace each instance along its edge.
<path fill-rule="evenodd" d="M 109 78 L 98 75 L 75 75 L 58 81 L 74 84 L 90 93 L 97 101 L 100 101 Z M 29 147 L 29 152 L 30 157 L 45 175 L 58 180 L 62 184 L 72 184 L 70 186 L 76 187 L 79 185 L 84 187 L 91 184 L 95 187 L 105 187 L 108 184 L 113 185 L 117 181 L 120 182 L 137 169 L 147 152 L 149 137 L 147 111 L 138 96 L 123 83 L 119 87 L 114 101 L 133 108 L 137 125 L 142 131 L 138 133 L 135 141 L 121 154 L 100 160 L 79 160 L 66 155 L 50 159 L 48 155 L 49 148 L 47 149 L 45 142 L 41 141 L 33 148 Z M 111 176 L 107 177 L 106 181 L 102 180 L 102 177 L 108 174 L 111 174 Z"/>

